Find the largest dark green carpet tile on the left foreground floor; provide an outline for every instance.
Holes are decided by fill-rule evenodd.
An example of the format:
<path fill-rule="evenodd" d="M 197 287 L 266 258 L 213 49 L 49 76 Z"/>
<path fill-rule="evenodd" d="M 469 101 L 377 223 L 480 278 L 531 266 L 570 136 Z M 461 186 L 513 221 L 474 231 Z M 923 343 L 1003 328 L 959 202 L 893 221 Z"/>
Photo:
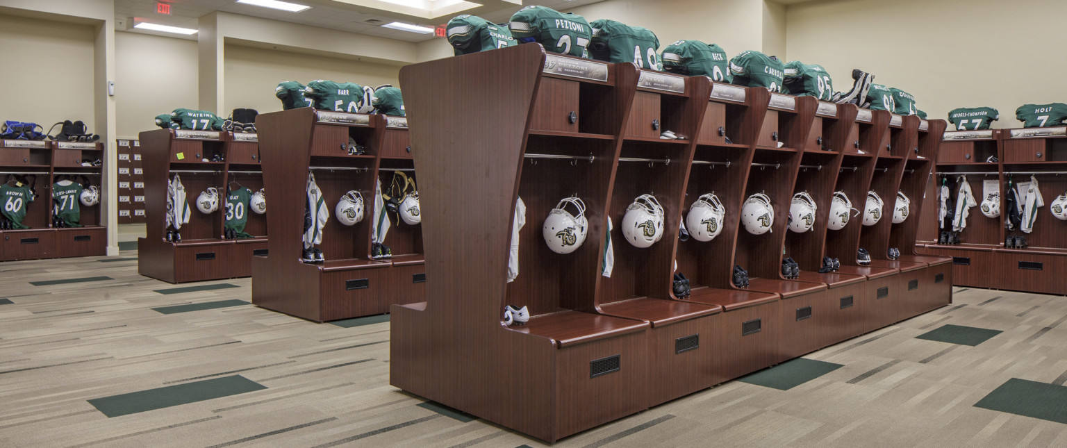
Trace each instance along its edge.
<path fill-rule="evenodd" d="M 176 384 L 130 394 L 94 398 L 89 400 L 89 403 L 108 417 L 117 417 L 266 388 L 267 386 L 262 384 L 235 374 L 233 377 Z"/>

